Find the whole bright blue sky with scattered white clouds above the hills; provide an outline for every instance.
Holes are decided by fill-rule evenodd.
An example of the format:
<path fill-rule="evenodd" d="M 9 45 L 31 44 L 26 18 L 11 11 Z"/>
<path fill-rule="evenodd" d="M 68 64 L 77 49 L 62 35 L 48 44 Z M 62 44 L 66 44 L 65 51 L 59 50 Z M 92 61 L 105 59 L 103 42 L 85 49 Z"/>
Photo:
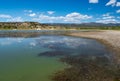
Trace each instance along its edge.
<path fill-rule="evenodd" d="M 120 0 L 0 0 L 0 22 L 120 23 Z"/>

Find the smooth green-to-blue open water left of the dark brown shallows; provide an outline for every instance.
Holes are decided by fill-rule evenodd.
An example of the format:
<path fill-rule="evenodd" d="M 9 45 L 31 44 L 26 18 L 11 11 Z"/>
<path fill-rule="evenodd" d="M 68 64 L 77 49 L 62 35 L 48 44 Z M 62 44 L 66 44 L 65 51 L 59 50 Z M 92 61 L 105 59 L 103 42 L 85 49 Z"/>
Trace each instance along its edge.
<path fill-rule="evenodd" d="M 51 74 L 65 67 L 57 58 L 37 57 L 48 49 L 29 45 L 32 39 L 15 40 L 0 39 L 4 42 L 0 46 L 0 81 L 50 81 Z"/>

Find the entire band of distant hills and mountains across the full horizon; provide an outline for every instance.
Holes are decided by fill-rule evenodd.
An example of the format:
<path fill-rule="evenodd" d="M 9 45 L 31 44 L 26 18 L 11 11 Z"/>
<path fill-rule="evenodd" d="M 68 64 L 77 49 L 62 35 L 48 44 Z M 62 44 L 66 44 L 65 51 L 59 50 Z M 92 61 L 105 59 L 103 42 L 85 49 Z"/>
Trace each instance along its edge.
<path fill-rule="evenodd" d="M 120 29 L 120 23 L 38 23 L 38 22 L 0 22 L 0 29 Z"/>

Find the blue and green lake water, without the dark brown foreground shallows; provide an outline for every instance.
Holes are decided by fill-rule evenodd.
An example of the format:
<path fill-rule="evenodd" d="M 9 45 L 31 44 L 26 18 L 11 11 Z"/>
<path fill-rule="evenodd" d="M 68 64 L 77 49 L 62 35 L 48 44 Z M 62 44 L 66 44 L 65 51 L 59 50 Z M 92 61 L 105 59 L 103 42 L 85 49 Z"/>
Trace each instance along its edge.
<path fill-rule="evenodd" d="M 110 52 L 96 40 L 51 32 L 6 32 L 0 33 L 0 81 L 51 81 L 53 73 L 67 67 L 59 61 L 66 56 L 105 57 L 111 61 Z"/>

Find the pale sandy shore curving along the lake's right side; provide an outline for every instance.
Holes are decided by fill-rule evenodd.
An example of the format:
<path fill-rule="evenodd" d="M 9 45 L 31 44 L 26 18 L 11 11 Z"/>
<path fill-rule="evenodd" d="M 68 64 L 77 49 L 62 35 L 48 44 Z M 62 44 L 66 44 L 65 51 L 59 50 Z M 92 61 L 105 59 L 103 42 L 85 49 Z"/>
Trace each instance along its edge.
<path fill-rule="evenodd" d="M 70 34 L 72 36 L 80 36 L 97 39 L 105 44 L 116 53 L 115 57 L 120 63 L 120 31 L 104 30 L 104 31 L 89 31 Z"/>

